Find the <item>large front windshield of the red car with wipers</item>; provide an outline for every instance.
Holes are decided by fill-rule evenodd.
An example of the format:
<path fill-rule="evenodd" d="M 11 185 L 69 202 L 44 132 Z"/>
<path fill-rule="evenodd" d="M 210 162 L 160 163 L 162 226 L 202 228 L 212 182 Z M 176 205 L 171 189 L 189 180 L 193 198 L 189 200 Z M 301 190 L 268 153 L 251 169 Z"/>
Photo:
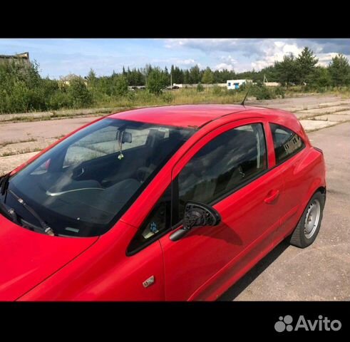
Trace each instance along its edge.
<path fill-rule="evenodd" d="M 9 190 L 56 234 L 98 236 L 115 224 L 192 133 L 106 118 L 19 171 L 9 180 Z M 40 225 L 11 192 L 0 199 L 14 209 L 20 222 Z"/>

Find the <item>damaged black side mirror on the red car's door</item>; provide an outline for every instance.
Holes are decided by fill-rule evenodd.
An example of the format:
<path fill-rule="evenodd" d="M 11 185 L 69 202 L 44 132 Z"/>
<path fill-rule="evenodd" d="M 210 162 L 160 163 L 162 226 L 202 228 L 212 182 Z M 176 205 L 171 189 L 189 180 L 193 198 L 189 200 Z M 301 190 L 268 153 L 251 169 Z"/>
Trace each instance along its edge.
<path fill-rule="evenodd" d="M 177 241 L 193 227 L 217 226 L 221 222 L 221 216 L 214 208 L 206 204 L 190 201 L 185 206 L 182 222 L 183 227 L 171 234 L 170 240 Z"/>

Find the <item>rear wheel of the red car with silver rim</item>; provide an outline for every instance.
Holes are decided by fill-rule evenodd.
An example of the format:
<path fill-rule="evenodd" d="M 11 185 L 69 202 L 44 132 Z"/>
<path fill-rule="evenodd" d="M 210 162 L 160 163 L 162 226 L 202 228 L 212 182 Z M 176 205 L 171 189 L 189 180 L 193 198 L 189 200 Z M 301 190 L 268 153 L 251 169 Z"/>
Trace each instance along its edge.
<path fill-rule="evenodd" d="M 325 196 L 316 192 L 305 208 L 302 218 L 294 229 L 289 243 L 299 248 L 310 246 L 315 241 L 321 227 Z"/>

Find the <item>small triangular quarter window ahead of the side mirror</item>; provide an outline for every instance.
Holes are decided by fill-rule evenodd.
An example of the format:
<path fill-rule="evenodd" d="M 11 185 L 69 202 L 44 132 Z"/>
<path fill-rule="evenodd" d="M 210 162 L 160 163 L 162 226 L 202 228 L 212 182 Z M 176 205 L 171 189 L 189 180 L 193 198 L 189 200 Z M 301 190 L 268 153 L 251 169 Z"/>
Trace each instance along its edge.
<path fill-rule="evenodd" d="M 171 185 L 165 190 L 152 212 L 148 215 L 143 226 L 128 247 L 128 253 L 137 251 L 140 247 L 149 244 L 158 238 L 159 234 L 170 228 L 171 220 Z"/>

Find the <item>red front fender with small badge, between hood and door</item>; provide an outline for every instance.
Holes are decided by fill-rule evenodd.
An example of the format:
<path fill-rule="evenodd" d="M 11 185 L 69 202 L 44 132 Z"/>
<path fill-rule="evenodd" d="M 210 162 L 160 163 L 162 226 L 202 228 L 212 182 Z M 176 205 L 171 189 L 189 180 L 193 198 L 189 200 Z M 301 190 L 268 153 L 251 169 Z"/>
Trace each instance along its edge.
<path fill-rule="evenodd" d="M 159 242 L 127 257 L 135 227 L 119 221 L 96 244 L 20 301 L 162 301 L 165 300 L 163 253 Z M 154 276 L 152 286 L 143 281 Z"/>

